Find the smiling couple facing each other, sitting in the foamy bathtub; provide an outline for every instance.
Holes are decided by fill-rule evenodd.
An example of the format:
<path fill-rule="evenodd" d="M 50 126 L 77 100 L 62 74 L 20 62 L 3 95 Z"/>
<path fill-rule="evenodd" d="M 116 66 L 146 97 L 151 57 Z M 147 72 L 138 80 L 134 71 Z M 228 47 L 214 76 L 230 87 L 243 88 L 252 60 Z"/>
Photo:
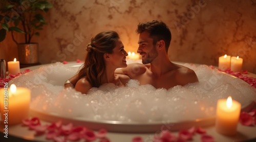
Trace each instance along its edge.
<path fill-rule="evenodd" d="M 168 59 L 172 38 L 170 30 L 160 21 L 138 24 L 139 47 L 143 64 L 126 64 L 127 52 L 114 31 L 97 34 L 87 45 L 87 56 L 79 72 L 65 82 L 65 87 L 87 94 L 92 87 L 103 83 L 125 86 L 129 79 L 137 79 L 140 85 L 151 84 L 155 88 L 169 89 L 198 81 L 196 73 Z M 117 68 L 122 68 L 116 70 Z"/>

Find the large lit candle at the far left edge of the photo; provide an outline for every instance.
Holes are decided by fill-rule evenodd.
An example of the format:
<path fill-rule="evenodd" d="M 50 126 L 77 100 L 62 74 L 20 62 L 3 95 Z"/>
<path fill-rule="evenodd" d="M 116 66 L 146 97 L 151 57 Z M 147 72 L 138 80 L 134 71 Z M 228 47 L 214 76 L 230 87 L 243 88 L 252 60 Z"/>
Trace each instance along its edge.
<path fill-rule="evenodd" d="M 9 89 L 0 89 L 0 109 L 5 125 L 19 124 L 29 117 L 30 90 L 16 88 L 11 84 Z"/>

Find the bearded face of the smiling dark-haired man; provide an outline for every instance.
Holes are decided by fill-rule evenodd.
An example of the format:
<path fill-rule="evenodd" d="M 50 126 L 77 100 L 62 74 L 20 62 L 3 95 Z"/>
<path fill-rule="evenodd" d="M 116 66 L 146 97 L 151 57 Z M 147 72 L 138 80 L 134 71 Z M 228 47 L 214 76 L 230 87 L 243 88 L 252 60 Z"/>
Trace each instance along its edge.
<path fill-rule="evenodd" d="M 137 52 L 141 55 L 143 64 L 151 63 L 158 56 L 156 45 L 153 45 L 153 38 L 150 37 L 150 33 L 140 33 L 138 44 Z"/>

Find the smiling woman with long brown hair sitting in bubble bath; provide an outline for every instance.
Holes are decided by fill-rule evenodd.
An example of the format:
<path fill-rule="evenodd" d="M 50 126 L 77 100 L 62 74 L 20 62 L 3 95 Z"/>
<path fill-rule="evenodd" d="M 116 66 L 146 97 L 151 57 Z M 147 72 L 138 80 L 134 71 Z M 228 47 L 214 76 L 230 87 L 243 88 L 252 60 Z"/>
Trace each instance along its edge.
<path fill-rule="evenodd" d="M 76 91 L 87 94 L 92 87 L 99 87 L 103 83 L 114 83 L 125 86 L 129 76 L 115 74 L 117 68 L 124 68 L 127 52 L 119 35 L 114 31 L 97 34 L 87 45 L 87 56 L 83 67 L 78 72 Z"/>

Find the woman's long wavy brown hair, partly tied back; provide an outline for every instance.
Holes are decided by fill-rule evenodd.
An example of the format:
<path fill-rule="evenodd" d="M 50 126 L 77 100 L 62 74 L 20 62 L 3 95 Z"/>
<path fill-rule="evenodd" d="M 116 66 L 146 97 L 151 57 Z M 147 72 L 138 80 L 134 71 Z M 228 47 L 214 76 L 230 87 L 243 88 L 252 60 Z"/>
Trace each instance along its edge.
<path fill-rule="evenodd" d="M 97 34 L 87 45 L 87 56 L 83 67 L 78 72 L 78 78 L 86 76 L 92 87 L 101 85 L 101 78 L 106 70 L 104 53 L 113 53 L 119 35 L 114 31 L 105 31 Z"/>

